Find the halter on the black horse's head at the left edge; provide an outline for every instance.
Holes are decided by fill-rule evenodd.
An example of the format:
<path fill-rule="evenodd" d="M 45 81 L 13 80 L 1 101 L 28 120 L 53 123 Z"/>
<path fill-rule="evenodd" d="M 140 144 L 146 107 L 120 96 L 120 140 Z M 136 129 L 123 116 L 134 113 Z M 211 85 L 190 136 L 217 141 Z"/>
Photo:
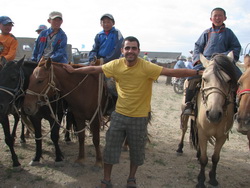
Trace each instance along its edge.
<path fill-rule="evenodd" d="M 3 91 L 3 92 L 5 92 L 5 93 L 7 93 L 7 94 L 9 94 L 9 95 L 12 96 L 12 100 L 9 102 L 9 104 L 12 104 L 15 109 L 17 109 L 17 108 L 16 108 L 14 102 L 17 101 L 17 99 L 19 97 L 25 95 L 25 92 L 23 90 L 24 73 L 23 73 L 22 69 L 20 69 L 19 75 L 20 75 L 20 79 L 19 79 L 19 82 L 18 82 L 18 84 L 17 84 L 17 86 L 16 86 L 15 89 L 12 89 L 12 88 L 9 88 L 9 87 L 0 86 L 0 91 Z"/>

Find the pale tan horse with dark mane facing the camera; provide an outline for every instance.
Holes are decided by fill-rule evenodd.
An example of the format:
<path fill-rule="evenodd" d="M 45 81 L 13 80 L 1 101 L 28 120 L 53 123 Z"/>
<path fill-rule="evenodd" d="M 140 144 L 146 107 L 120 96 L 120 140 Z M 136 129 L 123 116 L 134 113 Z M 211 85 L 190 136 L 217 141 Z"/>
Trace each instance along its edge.
<path fill-rule="evenodd" d="M 232 53 L 227 57 L 215 55 L 210 61 L 201 55 L 201 62 L 206 68 L 197 96 L 197 115 L 191 124 L 193 146 L 197 149 L 200 172 L 196 187 L 205 187 L 205 167 L 208 163 L 207 144 L 214 141 L 212 169 L 209 172 L 209 184 L 218 185 L 216 179 L 220 151 L 233 126 L 234 96 L 237 87 L 236 67 L 232 62 Z M 183 123 L 187 123 L 187 119 Z M 187 125 L 183 125 L 187 127 Z"/>

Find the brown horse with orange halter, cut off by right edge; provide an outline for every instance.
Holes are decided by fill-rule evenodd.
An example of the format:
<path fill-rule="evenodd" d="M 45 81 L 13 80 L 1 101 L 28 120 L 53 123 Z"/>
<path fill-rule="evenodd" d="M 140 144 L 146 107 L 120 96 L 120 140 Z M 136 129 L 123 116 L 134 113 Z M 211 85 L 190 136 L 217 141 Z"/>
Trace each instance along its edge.
<path fill-rule="evenodd" d="M 238 113 L 236 119 L 238 122 L 237 131 L 247 135 L 250 149 L 250 56 L 244 57 L 245 72 L 240 77 L 239 89 L 237 93 Z"/>

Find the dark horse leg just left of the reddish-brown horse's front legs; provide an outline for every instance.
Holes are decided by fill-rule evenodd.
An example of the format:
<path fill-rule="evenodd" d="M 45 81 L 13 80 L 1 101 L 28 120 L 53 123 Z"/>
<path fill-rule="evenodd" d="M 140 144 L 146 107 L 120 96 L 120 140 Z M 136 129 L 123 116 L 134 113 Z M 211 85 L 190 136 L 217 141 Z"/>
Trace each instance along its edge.
<path fill-rule="evenodd" d="M 56 153 L 55 162 L 61 162 L 63 161 L 64 157 L 58 144 L 60 125 L 53 118 L 49 122 L 50 122 L 50 127 L 52 128 L 50 138 L 55 146 L 55 153 Z"/>

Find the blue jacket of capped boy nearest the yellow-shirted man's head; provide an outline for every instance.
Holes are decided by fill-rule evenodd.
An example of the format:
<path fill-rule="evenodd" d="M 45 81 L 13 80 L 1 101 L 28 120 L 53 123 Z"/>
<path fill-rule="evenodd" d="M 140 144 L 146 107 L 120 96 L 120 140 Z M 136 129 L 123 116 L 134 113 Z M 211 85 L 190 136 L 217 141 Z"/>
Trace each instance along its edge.
<path fill-rule="evenodd" d="M 93 61 L 95 56 L 104 58 L 105 63 L 118 59 L 121 56 L 122 42 L 123 36 L 115 27 L 112 27 L 108 35 L 101 31 L 95 36 L 95 44 L 89 52 L 89 62 Z"/>

